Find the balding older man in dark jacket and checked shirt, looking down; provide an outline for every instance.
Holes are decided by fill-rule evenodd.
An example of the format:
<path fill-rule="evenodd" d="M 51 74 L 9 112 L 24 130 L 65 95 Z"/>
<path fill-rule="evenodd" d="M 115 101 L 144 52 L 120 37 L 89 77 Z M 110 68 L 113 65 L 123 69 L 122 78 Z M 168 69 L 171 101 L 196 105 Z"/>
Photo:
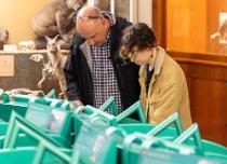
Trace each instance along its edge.
<path fill-rule="evenodd" d="M 119 112 L 138 100 L 138 66 L 119 57 L 122 30 L 130 25 L 93 6 L 79 11 L 64 68 L 69 100 L 99 107 L 114 96 Z"/>

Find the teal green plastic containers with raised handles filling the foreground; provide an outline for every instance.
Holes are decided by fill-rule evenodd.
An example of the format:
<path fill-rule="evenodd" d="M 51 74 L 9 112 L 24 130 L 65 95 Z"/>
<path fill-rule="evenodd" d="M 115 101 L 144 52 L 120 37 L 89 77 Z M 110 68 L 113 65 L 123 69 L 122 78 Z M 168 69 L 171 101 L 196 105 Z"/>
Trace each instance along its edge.
<path fill-rule="evenodd" d="M 227 148 L 198 124 L 183 129 L 177 113 L 148 124 L 139 101 L 118 114 L 114 97 L 74 111 L 54 91 L 0 97 L 1 164 L 227 164 Z"/>

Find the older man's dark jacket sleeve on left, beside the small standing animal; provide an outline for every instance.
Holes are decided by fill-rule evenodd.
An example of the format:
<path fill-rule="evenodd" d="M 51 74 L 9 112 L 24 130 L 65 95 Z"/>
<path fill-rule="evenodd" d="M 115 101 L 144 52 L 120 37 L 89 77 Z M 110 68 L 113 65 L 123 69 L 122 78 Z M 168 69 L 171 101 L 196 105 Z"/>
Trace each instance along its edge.
<path fill-rule="evenodd" d="M 72 53 L 72 52 L 71 52 Z M 80 91 L 78 87 L 78 79 L 77 79 L 77 71 L 76 71 L 76 64 L 75 64 L 75 55 L 68 56 L 68 59 L 64 67 L 64 74 L 66 78 L 67 88 L 66 94 L 68 97 L 68 100 L 78 100 L 80 99 Z"/>

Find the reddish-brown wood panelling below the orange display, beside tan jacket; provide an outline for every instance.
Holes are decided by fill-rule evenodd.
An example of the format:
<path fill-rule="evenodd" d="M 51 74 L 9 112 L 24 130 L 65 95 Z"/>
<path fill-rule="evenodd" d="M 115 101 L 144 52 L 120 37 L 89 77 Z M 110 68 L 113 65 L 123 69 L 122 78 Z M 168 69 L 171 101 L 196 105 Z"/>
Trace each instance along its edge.
<path fill-rule="evenodd" d="M 192 120 L 199 124 L 202 137 L 227 146 L 227 65 L 195 59 L 195 54 L 189 58 L 171 55 L 187 77 Z"/>

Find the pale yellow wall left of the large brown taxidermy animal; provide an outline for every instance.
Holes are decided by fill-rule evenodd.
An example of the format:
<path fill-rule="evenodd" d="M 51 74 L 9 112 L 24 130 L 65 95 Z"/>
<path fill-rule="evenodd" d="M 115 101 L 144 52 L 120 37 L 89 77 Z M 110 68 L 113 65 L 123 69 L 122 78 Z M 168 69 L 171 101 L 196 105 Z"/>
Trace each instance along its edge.
<path fill-rule="evenodd" d="M 0 0 L 0 27 L 10 33 L 8 43 L 34 40 L 31 17 L 51 0 Z"/>

